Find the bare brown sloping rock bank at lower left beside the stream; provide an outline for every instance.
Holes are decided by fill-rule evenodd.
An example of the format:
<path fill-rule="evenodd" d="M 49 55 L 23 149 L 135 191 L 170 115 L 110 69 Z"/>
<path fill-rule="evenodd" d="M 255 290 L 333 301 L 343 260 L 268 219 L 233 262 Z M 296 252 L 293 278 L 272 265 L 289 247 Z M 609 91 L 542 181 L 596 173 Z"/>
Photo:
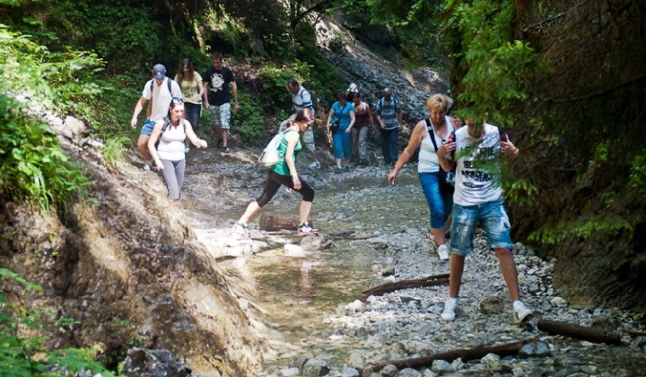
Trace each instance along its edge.
<path fill-rule="evenodd" d="M 78 149 L 92 164 L 96 153 Z M 74 338 L 106 352 L 111 343 L 137 342 L 169 350 L 193 373 L 251 375 L 262 364 L 261 337 L 214 258 L 181 208 L 165 199 L 161 180 L 121 168 L 124 175 L 101 165 L 87 169 L 93 202 L 70 206 L 65 224 L 0 203 L 0 267 L 43 287 L 17 290 L 10 300 L 81 322 L 52 346 Z"/>

